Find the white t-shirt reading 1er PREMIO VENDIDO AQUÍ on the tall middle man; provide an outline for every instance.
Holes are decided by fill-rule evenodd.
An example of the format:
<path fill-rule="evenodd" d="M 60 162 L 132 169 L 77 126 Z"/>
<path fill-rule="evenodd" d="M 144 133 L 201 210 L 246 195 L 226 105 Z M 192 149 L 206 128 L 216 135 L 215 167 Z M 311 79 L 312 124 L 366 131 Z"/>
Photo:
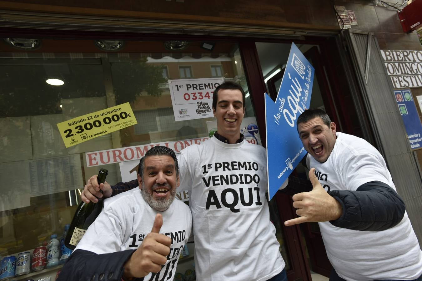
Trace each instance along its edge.
<path fill-rule="evenodd" d="M 265 148 L 215 137 L 179 156 L 181 190 L 189 190 L 197 280 L 267 280 L 283 270 L 270 222 Z"/>

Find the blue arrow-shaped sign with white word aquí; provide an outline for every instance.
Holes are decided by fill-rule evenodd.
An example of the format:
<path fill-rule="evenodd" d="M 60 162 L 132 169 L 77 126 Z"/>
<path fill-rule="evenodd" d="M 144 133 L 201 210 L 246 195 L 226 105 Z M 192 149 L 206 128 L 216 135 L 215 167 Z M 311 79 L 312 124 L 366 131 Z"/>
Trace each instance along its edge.
<path fill-rule="evenodd" d="M 311 103 L 315 69 L 292 43 L 276 102 L 265 94 L 268 197 L 271 200 L 306 155 L 296 119 Z"/>

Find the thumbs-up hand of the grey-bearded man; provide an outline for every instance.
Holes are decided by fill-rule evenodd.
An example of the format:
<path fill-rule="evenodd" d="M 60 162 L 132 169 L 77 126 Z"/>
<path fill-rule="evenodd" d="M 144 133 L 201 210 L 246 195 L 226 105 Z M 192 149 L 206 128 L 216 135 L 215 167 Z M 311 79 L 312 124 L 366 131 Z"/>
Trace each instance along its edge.
<path fill-rule="evenodd" d="M 162 215 L 157 214 L 151 233 L 143 239 L 141 246 L 124 264 L 124 277 L 144 277 L 150 272 L 159 272 L 170 254 L 171 238 L 160 233 Z"/>

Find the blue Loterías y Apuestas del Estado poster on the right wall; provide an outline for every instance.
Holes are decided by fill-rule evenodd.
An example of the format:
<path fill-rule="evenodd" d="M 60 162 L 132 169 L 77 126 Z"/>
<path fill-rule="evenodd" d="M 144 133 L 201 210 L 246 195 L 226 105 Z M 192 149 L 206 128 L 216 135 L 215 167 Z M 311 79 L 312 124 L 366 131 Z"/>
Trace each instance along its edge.
<path fill-rule="evenodd" d="M 410 89 L 394 91 L 394 96 L 406 127 L 410 147 L 412 149 L 421 148 L 422 124 Z"/>

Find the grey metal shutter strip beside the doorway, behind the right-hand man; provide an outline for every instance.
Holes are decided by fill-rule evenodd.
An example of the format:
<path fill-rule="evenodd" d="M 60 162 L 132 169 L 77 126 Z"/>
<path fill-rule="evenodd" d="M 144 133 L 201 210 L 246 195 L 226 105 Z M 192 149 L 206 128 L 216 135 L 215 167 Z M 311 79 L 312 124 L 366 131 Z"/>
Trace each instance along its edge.
<path fill-rule="evenodd" d="M 374 142 L 384 156 L 398 193 L 406 203 L 406 211 L 422 245 L 422 181 L 410 148 L 403 119 L 393 97 L 378 42 L 372 33 L 347 29 L 343 32 L 362 94 L 363 108 Z"/>

